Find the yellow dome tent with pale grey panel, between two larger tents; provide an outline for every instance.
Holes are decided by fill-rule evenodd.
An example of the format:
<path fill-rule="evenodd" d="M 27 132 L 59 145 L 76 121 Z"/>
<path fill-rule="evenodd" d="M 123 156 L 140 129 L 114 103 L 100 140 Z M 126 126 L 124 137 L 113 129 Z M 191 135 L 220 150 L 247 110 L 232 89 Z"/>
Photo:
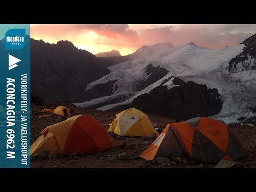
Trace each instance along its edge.
<path fill-rule="evenodd" d="M 126 109 L 116 114 L 114 121 L 110 124 L 108 132 L 118 135 L 133 135 L 139 137 L 158 136 L 159 133 L 152 126 L 148 116 L 138 109 Z"/>

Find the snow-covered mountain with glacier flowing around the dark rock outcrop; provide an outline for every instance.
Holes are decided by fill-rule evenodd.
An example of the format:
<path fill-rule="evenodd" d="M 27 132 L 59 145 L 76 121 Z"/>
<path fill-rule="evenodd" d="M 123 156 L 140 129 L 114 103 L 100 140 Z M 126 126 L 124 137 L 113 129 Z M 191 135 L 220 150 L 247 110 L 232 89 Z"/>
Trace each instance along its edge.
<path fill-rule="evenodd" d="M 167 86 L 167 89 L 177 86 L 170 79 L 174 76 L 218 90 L 222 109 L 213 118 L 221 118 L 226 123 L 237 122 L 239 117 L 249 118 L 254 114 L 248 107 L 256 105 L 256 70 L 251 70 L 255 65 L 252 64 L 255 63 L 255 38 L 256 35 L 235 47 L 217 50 L 194 43 L 179 47 L 170 43 L 143 46 L 126 61 L 108 67 L 110 74 L 87 84 L 85 93 L 103 85 L 111 91 L 103 97 L 95 96 L 75 104 L 99 110 L 130 105 L 139 95 L 149 94 L 158 86 Z M 248 62 L 246 70 L 234 69 L 243 68 Z M 166 79 L 170 80 L 163 83 Z"/>

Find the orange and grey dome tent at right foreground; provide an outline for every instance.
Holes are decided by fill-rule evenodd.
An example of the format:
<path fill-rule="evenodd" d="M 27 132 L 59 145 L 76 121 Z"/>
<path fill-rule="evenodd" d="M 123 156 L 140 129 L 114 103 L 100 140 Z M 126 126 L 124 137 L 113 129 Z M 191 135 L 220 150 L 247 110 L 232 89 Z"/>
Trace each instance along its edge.
<path fill-rule="evenodd" d="M 196 117 L 186 122 L 167 124 L 159 137 L 140 155 L 146 160 L 177 156 L 217 163 L 221 159 L 236 160 L 246 154 L 226 124 Z"/>

